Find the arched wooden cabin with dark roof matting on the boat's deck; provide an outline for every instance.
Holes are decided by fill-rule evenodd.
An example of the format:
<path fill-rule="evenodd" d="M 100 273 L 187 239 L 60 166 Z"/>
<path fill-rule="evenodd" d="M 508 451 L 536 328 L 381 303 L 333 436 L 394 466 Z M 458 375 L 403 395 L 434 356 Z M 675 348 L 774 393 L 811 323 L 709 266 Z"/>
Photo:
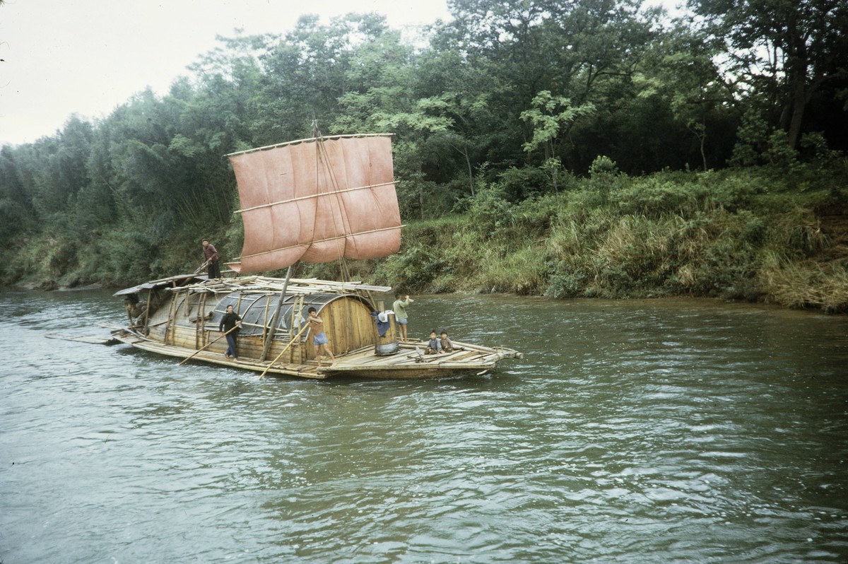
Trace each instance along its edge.
<path fill-rule="evenodd" d="M 274 282 L 268 282 L 274 281 Z M 151 343 L 181 355 L 205 350 L 226 351 L 220 321 L 228 305 L 242 318 L 238 355 L 280 365 L 305 365 L 315 360 L 309 317 L 314 307 L 324 321 L 334 355 L 372 347 L 379 355 L 397 352 L 393 316 L 377 323 L 377 311 L 363 293 L 349 293 L 358 284 L 315 280 L 293 281 L 282 293 L 278 279 L 247 278 L 207 281 L 204 276 L 173 276 L 115 293 L 125 297 L 131 327 Z M 385 291 L 388 288 L 365 287 Z"/>

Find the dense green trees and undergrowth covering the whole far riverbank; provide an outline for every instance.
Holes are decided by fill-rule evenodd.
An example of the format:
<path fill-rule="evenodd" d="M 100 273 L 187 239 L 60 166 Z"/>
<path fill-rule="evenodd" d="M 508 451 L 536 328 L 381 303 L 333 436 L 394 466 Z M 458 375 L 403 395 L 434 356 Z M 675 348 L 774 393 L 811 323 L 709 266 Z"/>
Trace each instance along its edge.
<path fill-rule="evenodd" d="M 676 21 L 639 0 L 449 7 L 425 36 L 349 14 L 220 38 L 167 95 L 3 147 L 3 282 L 193 270 L 202 237 L 237 256 L 223 155 L 310 137 L 314 120 L 396 135 L 402 215 L 420 223 L 404 254 L 368 268 L 416 288 L 757 297 L 778 283 L 757 270 L 773 221 L 751 207 L 774 178 L 777 193 L 806 194 L 802 209 L 840 201 L 848 4 L 690 0 Z M 810 204 L 813 189 L 824 196 Z"/>

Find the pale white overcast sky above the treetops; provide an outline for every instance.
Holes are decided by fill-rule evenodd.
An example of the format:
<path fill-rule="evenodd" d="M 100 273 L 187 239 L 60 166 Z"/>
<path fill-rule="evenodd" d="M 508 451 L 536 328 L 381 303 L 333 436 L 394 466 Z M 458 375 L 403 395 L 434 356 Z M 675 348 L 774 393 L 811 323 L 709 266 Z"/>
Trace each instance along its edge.
<path fill-rule="evenodd" d="M 660 1 L 660 0 L 657 0 Z M 663 0 L 672 2 L 672 0 Z M 383 14 L 394 29 L 449 20 L 447 0 L 5 0 L 0 4 L 0 146 L 34 142 L 72 114 L 96 120 L 131 96 L 168 92 L 215 48 L 215 36 L 291 31 L 302 14 L 324 23 Z"/>

